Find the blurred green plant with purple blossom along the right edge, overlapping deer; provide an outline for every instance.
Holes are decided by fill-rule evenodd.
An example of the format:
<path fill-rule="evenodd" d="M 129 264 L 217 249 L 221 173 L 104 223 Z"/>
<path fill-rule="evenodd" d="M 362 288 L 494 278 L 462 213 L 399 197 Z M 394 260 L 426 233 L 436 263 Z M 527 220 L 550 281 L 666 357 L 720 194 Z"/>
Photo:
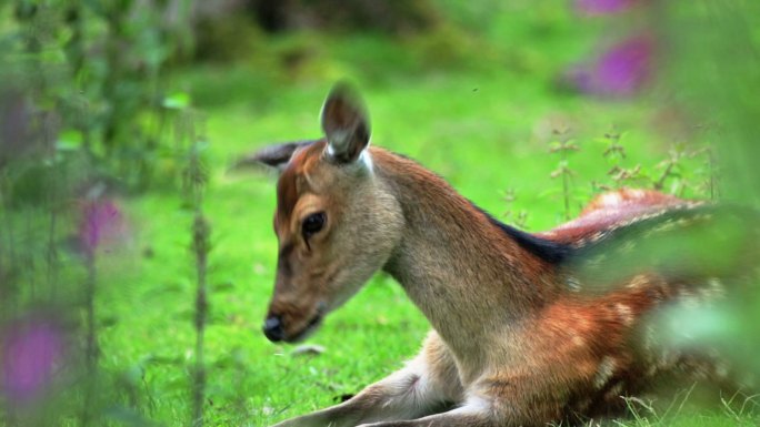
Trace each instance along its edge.
<path fill-rule="evenodd" d="M 576 87 L 596 95 L 613 95 L 618 101 L 637 94 L 653 110 L 669 112 L 664 115 L 670 121 L 667 128 L 678 130 L 669 136 L 679 143 L 652 171 L 652 186 L 679 195 L 687 187 L 697 189 L 723 206 L 720 212 L 706 213 L 692 225 L 686 224 L 688 230 L 674 227 L 684 223 L 673 218 L 662 224 L 663 233 L 657 238 L 642 241 L 630 235 L 619 244 L 604 246 L 603 253 L 591 258 L 604 257 L 609 268 L 603 273 L 617 274 L 600 283 L 616 286 L 620 275 L 631 274 L 631 268 L 678 272 L 677 277 L 693 286 L 694 297 L 690 304 L 661 313 L 654 327 L 657 340 L 663 349 L 701 349 L 707 354 L 720 349 L 727 357 L 727 372 L 743 375 L 744 384 L 757 388 L 759 384 L 752 378 L 760 377 L 756 326 L 760 324 L 760 167 L 756 164 L 760 159 L 756 141 L 760 134 L 760 99 L 751 94 L 760 93 L 760 3 L 574 3 L 588 16 L 626 12 L 608 18 L 614 22 L 614 30 L 608 29 L 612 34 L 607 35 L 628 40 L 572 74 Z M 627 28 L 623 31 L 628 33 L 621 35 L 620 28 Z M 646 35 L 630 38 L 630 28 L 636 28 L 634 34 Z M 686 166 L 699 159 L 704 160 L 699 169 Z M 686 176 L 689 170 L 697 179 Z M 673 231 L 677 228 L 680 232 Z M 591 273 L 596 281 L 600 279 L 598 273 L 602 272 Z M 707 283 L 690 282 L 700 275 L 712 278 Z M 719 302 L 700 303 L 708 294 L 719 296 Z M 737 418 L 740 424 L 751 423 L 748 419 L 751 417 Z"/>

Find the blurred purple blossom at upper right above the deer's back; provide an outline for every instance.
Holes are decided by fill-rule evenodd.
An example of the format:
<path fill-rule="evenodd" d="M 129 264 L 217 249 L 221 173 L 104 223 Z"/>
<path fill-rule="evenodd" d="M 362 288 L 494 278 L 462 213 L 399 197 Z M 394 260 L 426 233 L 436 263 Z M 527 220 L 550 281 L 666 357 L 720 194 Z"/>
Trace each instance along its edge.
<path fill-rule="evenodd" d="M 627 96 L 651 79 L 654 42 L 640 34 L 612 45 L 591 65 L 578 67 L 564 80 L 576 89 L 604 96 Z"/>

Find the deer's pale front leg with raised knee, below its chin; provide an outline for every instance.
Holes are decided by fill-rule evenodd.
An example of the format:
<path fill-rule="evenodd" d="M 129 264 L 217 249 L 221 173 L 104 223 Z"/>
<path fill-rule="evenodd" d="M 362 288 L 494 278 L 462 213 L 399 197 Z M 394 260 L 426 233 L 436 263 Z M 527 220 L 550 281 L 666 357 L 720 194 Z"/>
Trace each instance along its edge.
<path fill-rule="evenodd" d="M 413 419 L 461 398 L 453 359 L 434 333 L 402 369 L 364 388 L 351 399 L 274 427 L 354 427 L 362 423 Z"/>

